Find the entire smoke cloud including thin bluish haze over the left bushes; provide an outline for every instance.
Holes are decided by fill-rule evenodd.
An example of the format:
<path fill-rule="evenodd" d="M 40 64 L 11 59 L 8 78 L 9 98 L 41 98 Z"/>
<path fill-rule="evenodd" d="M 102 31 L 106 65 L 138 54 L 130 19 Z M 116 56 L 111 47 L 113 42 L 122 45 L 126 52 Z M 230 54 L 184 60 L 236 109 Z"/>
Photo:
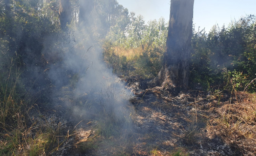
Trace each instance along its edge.
<path fill-rule="evenodd" d="M 13 20 L 17 27 L 10 28 L 9 32 L 15 31 L 14 34 L 6 35 L 9 43 L 4 45 L 7 49 L 4 53 L 18 54 L 23 70 L 21 86 L 28 92 L 24 95 L 27 103 L 36 101 L 42 108 L 51 106 L 46 102 L 61 105 L 74 124 L 82 120 L 107 121 L 117 125 L 118 130 L 132 129 L 131 124 L 126 124 L 133 111 L 129 107 L 132 93 L 102 59 L 100 38 L 110 25 L 96 24 L 100 22 L 94 9 L 95 1 L 89 1 L 80 1 L 84 13 L 79 14 L 79 27 L 71 22 L 66 28 L 62 27 L 64 32 L 54 28 L 57 20 L 51 21 L 47 16 L 38 18 L 27 14 L 20 18 L 24 21 Z M 44 11 L 51 10 L 42 9 L 42 14 Z M 4 56 L 0 59 L 1 66 L 7 64 L 2 62 Z"/>

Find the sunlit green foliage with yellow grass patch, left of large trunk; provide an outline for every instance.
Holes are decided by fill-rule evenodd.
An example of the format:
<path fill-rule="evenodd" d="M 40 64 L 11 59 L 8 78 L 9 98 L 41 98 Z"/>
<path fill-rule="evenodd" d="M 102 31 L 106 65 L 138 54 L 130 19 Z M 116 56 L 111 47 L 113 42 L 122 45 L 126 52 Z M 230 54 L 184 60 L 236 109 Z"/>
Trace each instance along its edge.
<path fill-rule="evenodd" d="M 129 22 L 110 28 L 103 44 L 104 60 L 115 73 L 153 78 L 162 65 L 167 31 L 163 18 L 145 24 L 141 15 L 131 12 Z"/>

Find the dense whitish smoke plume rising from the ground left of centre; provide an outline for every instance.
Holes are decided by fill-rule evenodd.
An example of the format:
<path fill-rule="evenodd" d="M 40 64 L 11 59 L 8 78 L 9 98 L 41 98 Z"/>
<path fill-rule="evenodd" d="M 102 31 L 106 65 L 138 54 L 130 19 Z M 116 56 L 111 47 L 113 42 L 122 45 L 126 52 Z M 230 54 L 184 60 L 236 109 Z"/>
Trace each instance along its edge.
<path fill-rule="evenodd" d="M 64 32 L 64 51 L 55 56 L 62 62 L 51 65 L 48 71 L 56 87 L 51 98 L 57 105 L 66 106 L 70 119 L 75 122 L 105 120 L 115 122 L 119 128 L 132 129 L 125 123 L 130 122 L 129 115 L 133 112 L 129 107 L 132 93 L 104 63 L 101 43 L 95 33 L 98 28 L 93 23 L 84 24 L 94 17 L 97 15 L 91 12 L 85 21 L 79 21 L 78 28 L 70 25 Z M 47 56 L 54 57 L 54 54 Z"/>

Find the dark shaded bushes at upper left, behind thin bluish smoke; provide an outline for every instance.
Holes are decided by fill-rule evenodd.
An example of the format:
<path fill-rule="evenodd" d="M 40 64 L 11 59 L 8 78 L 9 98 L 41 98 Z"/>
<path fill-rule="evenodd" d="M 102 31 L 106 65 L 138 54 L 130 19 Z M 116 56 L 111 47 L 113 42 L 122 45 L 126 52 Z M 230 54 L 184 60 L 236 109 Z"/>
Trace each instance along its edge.
<path fill-rule="evenodd" d="M 19 69 L 20 81 L 27 92 L 21 98 L 37 94 L 33 96 L 34 100 L 41 102 L 49 100 L 52 86 L 47 69 L 61 60 L 62 50 L 62 33 L 47 15 L 43 15 L 44 2 L 10 1 L 9 12 L 0 16 L 0 52 L 5 58 L 16 58 L 14 66 Z M 4 3 L 1 5 L 6 7 Z M 1 60 L 3 70 L 6 70 L 8 62 L 4 58 Z"/>

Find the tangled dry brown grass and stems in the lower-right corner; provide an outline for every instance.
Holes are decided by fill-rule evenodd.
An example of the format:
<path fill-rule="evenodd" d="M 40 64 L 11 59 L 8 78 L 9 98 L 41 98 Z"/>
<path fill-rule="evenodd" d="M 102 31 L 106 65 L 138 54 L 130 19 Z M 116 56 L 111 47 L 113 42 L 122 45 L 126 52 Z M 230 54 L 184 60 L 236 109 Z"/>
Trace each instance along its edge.
<path fill-rule="evenodd" d="M 241 93 L 238 93 L 241 95 Z M 218 118 L 210 120 L 210 129 L 243 155 L 256 155 L 256 94 L 244 93 L 242 102 L 231 97 L 217 108 Z"/>

